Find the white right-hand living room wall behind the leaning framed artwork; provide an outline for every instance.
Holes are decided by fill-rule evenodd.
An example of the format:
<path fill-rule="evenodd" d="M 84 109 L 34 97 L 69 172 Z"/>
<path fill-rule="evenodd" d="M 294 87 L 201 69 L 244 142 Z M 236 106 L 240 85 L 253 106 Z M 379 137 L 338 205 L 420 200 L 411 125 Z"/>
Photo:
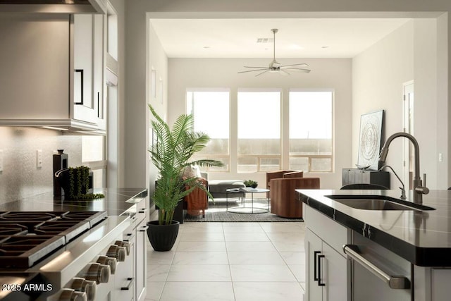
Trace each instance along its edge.
<path fill-rule="evenodd" d="M 414 78 L 414 23 L 409 22 L 352 60 L 352 161 L 357 164 L 360 116 L 385 110 L 383 140 L 402 132 L 402 84 Z M 387 164 L 402 175 L 402 138 L 390 146 Z M 395 157 L 397 156 L 397 158 Z M 399 186 L 394 175 L 392 188 Z"/>

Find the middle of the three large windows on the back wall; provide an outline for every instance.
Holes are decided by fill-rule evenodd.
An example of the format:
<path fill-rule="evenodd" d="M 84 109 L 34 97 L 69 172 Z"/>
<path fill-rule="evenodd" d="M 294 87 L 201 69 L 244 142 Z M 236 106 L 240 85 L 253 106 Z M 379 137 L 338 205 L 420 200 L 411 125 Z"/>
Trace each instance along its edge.
<path fill-rule="evenodd" d="M 237 172 L 280 168 L 280 91 L 239 91 Z"/>

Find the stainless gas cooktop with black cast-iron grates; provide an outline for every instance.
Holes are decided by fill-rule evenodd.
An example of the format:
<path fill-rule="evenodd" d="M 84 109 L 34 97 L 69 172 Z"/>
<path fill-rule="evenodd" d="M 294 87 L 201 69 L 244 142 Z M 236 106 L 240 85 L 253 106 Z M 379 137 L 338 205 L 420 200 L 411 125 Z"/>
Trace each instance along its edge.
<path fill-rule="evenodd" d="M 0 270 L 29 268 L 106 217 L 106 211 L 0 212 Z"/>

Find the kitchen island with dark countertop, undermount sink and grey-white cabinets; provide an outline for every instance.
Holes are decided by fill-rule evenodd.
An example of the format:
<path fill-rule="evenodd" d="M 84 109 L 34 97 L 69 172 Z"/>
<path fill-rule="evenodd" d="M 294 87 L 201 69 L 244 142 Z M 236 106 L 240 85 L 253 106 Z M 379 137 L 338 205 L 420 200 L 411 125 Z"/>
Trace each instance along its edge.
<path fill-rule="evenodd" d="M 324 296 L 332 293 L 335 296 L 341 294 L 340 300 L 448 300 L 446 292 L 451 281 L 450 190 L 433 190 L 424 195 L 422 204 L 431 207 L 427 210 L 356 209 L 338 202 L 347 196 L 350 199 L 359 196 L 399 199 L 400 192 L 396 190 L 297 190 L 297 195 L 299 201 L 304 202 L 307 225 L 307 300 L 316 300 L 313 297 L 316 290 L 314 281 L 321 286 L 319 294 L 323 298 L 319 300 L 325 300 Z M 412 192 L 407 195 L 407 201 L 409 199 L 413 199 Z M 316 238 L 319 242 L 314 245 Z M 389 287 L 393 285 L 390 283 L 393 278 L 386 280 L 379 275 L 378 278 L 388 283 L 385 285 L 375 276 L 364 274 L 364 268 L 356 264 L 350 252 L 345 252 L 344 245 L 348 245 L 347 250 L 354 247 L 357 253 L 366 256 L 369 260 L 364 259 L 365 262 L 382 266 L 381 270 L 387 271 L 388 276 L 404 275 L 403 288 Z M 324 257 L 326 253 L 329 253 L 326 256 L 329 259 Z M 337 261 L 333 262 L 330 254 L 337 255 Z M 327 264 L 323 264 L 324 261 Z M 318 267 L 319 264 L 323 268 Z M 324 266 L 328 266 L 329 271 L 323 271 L 326 269 Z M 339 275 L 330 270 L 333 266 L 339 267 Z M 321 277 L 317 274 L 321 273 L 327 275 L 328 285 L 323 285 L 325 279 L 318 281 Z M 309 280 L 310 274 L 314 274 L 313 281 Z M 334 275 L 336 279 L 344 278 L 345 281 L 333 283 L 331 277 Z M 365 291 L 359 288 L 362 283 L 373 284 L 373 280 L 374 285 L 367 286 Z M 340 292 L 330 291 L 340 286 L 345 288 Z M 376 298 L 371 298 L 371 295 Z"/>

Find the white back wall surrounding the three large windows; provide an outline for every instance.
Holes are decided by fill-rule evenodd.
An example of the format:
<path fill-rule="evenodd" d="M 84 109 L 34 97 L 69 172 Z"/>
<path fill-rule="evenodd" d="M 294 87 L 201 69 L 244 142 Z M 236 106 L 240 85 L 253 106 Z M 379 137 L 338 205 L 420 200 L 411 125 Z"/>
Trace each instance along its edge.
<path fill-rule="evenodd" d="M 283 102 L 288 104 L 290 88 L 333 89 L 334 99 L 334 173 L 308 173 L 304 176 L 319 176 L 321 188 L 340 188 L 341 169 L 351 162 L 351 60 L 350 59 L 280 59 L 280 63 L 308 63 L 311 73 L 293 73 L 290 76 L 267 74 L 255 77 L 252 73 L 237 74 L 242 66 L 266 66 L 271 59 L 169 59 L 168 121 L 186 113 L 185 94 L 187 88 L 229 88 L 232 103 L 231 124 L 236 124 L 236 95 L 239 88 L 280 88 Z M 288 106 L 285 106 L 288 107 Z M 235 113 L 235 114 L 234 114 Z M 285 120 L 284 123 L 288 123 Z M 288 128 L 288 126 L 285 126 Z M 233 149 L 233 146 L 232 146 Z M 233 152 L 233 150 L 232 150 Z M 232 156 L 232 166 L 236 166 Z M 286 167 L 288 168 L 288 166 Z M 209 173 L 209 179 L 252 179 L 266 187 L 266 173 Z"/>

